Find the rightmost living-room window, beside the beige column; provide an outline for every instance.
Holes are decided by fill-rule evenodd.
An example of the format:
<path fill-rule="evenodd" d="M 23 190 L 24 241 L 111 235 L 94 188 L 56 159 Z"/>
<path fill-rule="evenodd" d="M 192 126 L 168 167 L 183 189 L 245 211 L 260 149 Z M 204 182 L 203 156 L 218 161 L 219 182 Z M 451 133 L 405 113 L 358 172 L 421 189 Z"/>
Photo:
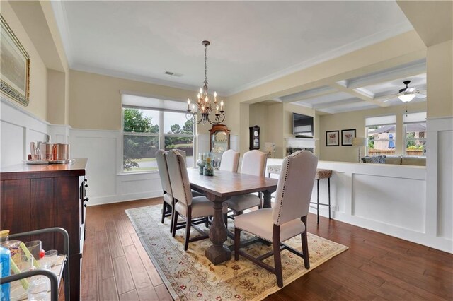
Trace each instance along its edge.
<path fill-rule="evenodd" d="M 425 155 L 426 112 L 403 115 L 405 155 Z"/>

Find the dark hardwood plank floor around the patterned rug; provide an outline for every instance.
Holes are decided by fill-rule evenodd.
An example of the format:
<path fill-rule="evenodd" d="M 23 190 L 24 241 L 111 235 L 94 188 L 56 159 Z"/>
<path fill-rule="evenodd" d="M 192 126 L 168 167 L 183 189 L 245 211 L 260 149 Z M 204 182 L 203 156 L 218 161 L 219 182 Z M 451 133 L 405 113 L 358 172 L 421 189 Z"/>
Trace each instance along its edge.
<path fill-rule="evenodd" d="M 87 209 L 81 300 L 171 300 L 125 209 L 147 199 Z M 308 230 L 348 251 L 266 300 L 453 300 L 453 255 L 336 220 L 309 216 Z"/>

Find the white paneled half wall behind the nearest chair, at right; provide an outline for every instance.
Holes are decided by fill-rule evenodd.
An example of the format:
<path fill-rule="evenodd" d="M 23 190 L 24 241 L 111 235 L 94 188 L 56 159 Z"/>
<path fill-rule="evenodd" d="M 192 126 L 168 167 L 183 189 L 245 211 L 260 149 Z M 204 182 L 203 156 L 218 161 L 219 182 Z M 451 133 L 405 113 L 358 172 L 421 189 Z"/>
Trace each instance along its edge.
<path fill-rule="evenodd" d="M 442 141 L 448 139 L 442 138 Z M 268 160 L 268 165 L 281 163 L 282 159 Z M 449 200 L 440 202 L 442 210 L 435 220 L 425 218 L 427 203 L 432 201 L 430 197 L 427 198 L 426 167 L 329 161 L 319 161 L 318 167 L 333 170 L 332 218 L 445 252 L 453 252 L 452 237 L 447 236 L 451 235 L 451 195 Z M 443 182 L 439 187 L 449 187 L 451 192 L 451 177 L 445 180 L 449 180 L 450 184 Z M 328 202 L 327 183 L 326 179 L 319 182 L 320 203 Z M 316 201 L 316 181 L 311 201 Z M 316 207 L 311 206 L 310 212 L 316 214 Z M 320 215 L 328 217 L 326 206 L 320 206 Z M 321 220 L 320 223 L 323 222 Z M 440 231 L 437 234 L 432 235 L 428 231 L 428 225 L 431 223 L 438 225 Z"/>

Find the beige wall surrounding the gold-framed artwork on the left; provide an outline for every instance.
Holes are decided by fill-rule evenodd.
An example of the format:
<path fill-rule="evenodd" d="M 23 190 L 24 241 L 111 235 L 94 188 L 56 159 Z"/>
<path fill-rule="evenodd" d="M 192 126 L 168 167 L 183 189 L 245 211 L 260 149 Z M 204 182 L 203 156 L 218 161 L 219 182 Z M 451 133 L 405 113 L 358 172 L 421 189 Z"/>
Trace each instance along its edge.
<path fill-rule="evenodd" d="M 6 23 L 10 26 L 13 33 L 21 42 L 28 55 L 30 56 L 30 103 L 27 107 L 19 105 L 15 100 L 11 102 L 23 107 L 26 111 L 34 114 L 40 119 L 47 120 L 47 69 L 43 63 L 33 42 L 26 33 L 21 21 L 7 1 L 0 3 L 1 15 L 4 16 Z"/>

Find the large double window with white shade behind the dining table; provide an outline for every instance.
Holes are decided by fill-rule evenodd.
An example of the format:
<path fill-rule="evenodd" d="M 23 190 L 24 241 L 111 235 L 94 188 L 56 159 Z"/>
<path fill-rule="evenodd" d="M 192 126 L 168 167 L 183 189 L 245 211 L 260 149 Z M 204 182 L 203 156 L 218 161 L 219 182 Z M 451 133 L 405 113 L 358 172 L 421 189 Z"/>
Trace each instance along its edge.
<path fill-rule="evenodd" d="M 122 95 L 122 146 L 125 172 L 157 170 L 156 152 L 178 148 L 193 166 L 193 125 L 185 102 Z"/>

